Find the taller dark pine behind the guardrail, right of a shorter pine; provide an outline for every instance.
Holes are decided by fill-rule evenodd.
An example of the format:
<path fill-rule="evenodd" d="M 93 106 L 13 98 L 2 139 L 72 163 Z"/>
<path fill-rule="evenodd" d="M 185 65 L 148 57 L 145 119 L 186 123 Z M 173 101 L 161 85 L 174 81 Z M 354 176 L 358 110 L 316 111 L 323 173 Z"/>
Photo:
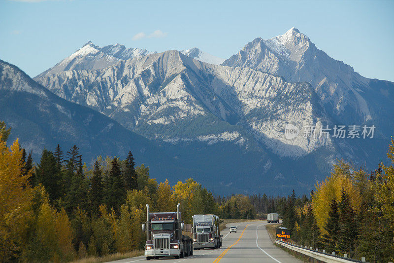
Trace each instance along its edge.
<path fill-rule="evenodd" d="M 357 237 L 357 225 L 355 212 L 348 193 L 342 188 L 341 201 L 339 202 L 339 251 L 350 256 L 353 252 Z"/>

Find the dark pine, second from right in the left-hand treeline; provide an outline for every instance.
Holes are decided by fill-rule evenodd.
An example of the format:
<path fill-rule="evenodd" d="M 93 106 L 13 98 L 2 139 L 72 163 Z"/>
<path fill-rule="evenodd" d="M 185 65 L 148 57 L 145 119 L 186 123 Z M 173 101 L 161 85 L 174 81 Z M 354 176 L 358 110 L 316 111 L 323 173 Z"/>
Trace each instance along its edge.
<path fill-rule="evenodd" d="M 117 158 L 112 160 L 112 168 L 108 174 L 105 195 L 107 207 L 109 209 L 113 207 L 115 211 L 119 211 L 120 204 L 126 198 L 126 191 Z"/>

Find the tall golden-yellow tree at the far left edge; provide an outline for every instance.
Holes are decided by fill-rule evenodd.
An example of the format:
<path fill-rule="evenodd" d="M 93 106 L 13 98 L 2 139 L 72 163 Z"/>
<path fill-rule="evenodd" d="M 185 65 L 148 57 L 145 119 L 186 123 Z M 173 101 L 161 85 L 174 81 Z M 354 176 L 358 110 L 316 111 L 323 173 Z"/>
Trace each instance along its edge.
<path fill-rule="evenodd" d="M 22 173 L 22 151 L 16 140 L 8 149 L 0 140 L 0 262 L 18 257 L 26 243 L 31 208 L 32 189 L 27 175 Z"/>

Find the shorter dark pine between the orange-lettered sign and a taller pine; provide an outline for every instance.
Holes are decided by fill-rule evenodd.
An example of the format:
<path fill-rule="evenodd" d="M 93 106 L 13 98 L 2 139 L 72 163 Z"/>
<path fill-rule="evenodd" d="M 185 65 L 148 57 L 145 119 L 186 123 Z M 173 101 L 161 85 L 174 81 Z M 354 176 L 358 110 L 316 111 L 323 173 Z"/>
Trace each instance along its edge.
<path fill-rule="evenodd" d="M 327 224 L 325 230 L 328 234 L 323 235 L 323 242 L 328 252 L 337 250 L 337 243 L 339 240 L 339 212 L 338 205 L 335 198 L 331 200 L 330 210 L 328 212 Z"/>

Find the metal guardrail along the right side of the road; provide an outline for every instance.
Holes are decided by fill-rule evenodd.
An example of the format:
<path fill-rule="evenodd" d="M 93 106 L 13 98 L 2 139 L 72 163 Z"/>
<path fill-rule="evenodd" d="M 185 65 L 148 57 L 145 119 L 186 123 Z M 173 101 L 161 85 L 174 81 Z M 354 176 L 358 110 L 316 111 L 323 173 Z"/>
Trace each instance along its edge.
<path fill-rule="evenodd" d="M 363 262 L 364 263 L 365 262 L 364 258 L 363 258 L 363 261 L 352 260 L 352 259 L 343 258 L 343 257 L 327 254 L 324 252 L 320 252 L 318 250 L 304 248 L 302 246 L 298 246 L 296 244 L 287 243 L 287 242 L 280 241 L 280 240 L 275 240 L 275 243 L 279 244 L 283 247 L 286 247 L 289 250 L 296 252 L 296 254 L 298 254 L 298 255 L 303 255 L 303 256 L 309 257 L 311 259 L 314 259 L 315 262 L 316 262 L 316 260 L 319 262 L 327 262 L 327 263 L 351 263 L 351 262 Z"/>

